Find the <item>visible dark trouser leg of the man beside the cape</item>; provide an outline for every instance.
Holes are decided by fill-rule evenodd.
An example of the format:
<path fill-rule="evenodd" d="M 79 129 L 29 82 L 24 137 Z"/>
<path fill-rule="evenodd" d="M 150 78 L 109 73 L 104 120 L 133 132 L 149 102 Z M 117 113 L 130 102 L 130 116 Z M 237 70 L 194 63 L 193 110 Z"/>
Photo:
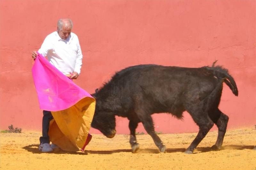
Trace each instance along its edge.
<path fill-rule="evenodd" d="M 43 122 L 42 122 L 42 137 L 40 137 L 40 144 L 50 143 L 48 131 L 49 131 L 49 125 L 50 121 L 53 119 L 52 113 L 50 111 L 43 111 Z"/>

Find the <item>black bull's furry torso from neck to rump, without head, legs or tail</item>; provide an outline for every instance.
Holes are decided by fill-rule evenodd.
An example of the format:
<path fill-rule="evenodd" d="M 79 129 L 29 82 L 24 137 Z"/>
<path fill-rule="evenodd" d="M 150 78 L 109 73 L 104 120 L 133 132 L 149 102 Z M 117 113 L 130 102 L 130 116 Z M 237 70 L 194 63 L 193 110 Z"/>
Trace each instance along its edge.
<path fill-rule="evenodd" d="M 117 72 L 100 91 L 121 106 L 120 114 L 132 110 L 139 100 L 140 107 L 152 106 L 154 113 L 179 117 L 184 102 L 199 102 L 214 90 L 218 82 L 211 74 L 204 68 L 137 65 Z"/>

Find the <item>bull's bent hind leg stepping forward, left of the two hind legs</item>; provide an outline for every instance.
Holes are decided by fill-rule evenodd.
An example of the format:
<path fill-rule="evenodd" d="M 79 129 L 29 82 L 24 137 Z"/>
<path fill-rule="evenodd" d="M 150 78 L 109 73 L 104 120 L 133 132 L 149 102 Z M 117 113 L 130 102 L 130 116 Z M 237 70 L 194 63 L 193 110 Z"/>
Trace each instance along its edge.
<path fill-rule="evenodd" d="M 186 149 L 185 153 L 191 154 L 196 149 L 197 145 L 203 140 L 206 134 L 213 126 L 213 122 L 210 117 L 204 112 L 189 112 L 193 120 L 199 126 L 199 132 L 190 146 Z"/>

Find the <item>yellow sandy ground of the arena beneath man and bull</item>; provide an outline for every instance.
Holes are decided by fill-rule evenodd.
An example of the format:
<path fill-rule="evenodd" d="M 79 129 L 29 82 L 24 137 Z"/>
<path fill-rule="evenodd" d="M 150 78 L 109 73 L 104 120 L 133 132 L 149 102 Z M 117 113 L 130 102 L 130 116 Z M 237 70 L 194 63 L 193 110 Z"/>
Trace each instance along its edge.
<path fill-rule="evenodd" d="M 248 169 L 256 170 L 256 129 L 229 130 L 220 151 L 211 151 L 217 131 L 209 132 L 194 154 L 183 153 L 196 133 L 161 134 L 167 147 L 159 153 L 149 135 L 138 135 L 140 149 L 131 153 L 129 135 L 109 139 L 92 134 L 86 152 L 38 150 L 40 132 L 0 133 L 0 169 Z"/>

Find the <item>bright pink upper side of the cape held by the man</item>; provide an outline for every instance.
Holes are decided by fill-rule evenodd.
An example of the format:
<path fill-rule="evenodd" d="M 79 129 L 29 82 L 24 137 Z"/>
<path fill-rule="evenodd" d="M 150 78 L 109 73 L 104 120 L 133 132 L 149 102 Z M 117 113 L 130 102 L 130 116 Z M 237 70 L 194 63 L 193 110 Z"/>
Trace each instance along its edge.
<path fill-rule="evenodd" d="M 39 53 L 32 67 L 32 75 L 40 109 L 60 111 L 75 105 L 85 97 L 92 98 Z"/>

